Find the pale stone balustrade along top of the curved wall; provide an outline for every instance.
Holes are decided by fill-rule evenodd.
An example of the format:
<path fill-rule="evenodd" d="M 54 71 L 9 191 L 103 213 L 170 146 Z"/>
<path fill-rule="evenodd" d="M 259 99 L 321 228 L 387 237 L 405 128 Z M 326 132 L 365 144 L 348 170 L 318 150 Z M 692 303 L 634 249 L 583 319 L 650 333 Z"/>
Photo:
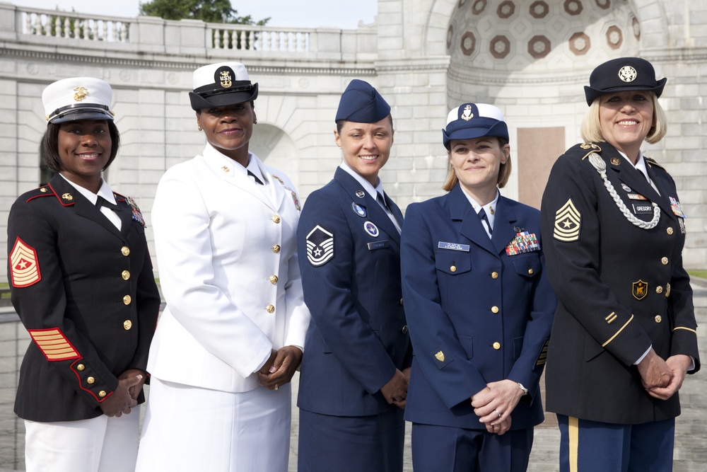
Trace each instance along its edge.
<path fill-rule="evenodd" d="M 375 25 L 338 28 L 272 28 L 260 25 L 170 21 L 153 16 L 121 18 L 0 3 L 0 41 L 84 50 L 214 58 L 375 59 Z"/>

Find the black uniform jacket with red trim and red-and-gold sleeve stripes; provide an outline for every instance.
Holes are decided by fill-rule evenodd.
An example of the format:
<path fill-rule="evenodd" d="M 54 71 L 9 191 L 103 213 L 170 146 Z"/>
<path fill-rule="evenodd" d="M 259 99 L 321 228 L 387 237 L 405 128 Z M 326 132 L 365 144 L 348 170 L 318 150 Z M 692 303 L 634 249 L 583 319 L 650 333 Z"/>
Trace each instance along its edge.
<path fill-rule="evenodd" d="M 115 198 L 120 231 L 61 175 L 10 210 L 12 303 L 33 338 L 20 370 L 20 418 L 103 415 L 117 376 L 147 369 L 160 296 L 145 228 Z"/>

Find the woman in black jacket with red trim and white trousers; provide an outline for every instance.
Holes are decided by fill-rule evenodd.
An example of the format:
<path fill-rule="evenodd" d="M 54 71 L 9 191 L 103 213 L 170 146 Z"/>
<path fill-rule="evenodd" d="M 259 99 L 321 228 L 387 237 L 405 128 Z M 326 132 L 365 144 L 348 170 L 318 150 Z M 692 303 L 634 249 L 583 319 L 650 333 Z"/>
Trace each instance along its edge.
<path fill-rule="evenodd" d="M 75 77 L 45 88 L 47 166 L 8 218 L 12 302 L 30 333 L 15 412 L 28 471 L 133 471 L 142 386 L 160 305 L 132 199 L 101 172 L 119 134 L 112 90 Z"/>

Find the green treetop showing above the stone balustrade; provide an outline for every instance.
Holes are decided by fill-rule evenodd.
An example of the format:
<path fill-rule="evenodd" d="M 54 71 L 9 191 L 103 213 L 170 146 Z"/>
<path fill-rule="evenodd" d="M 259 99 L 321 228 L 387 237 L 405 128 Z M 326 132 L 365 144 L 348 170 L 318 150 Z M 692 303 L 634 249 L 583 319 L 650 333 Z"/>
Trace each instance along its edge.
<path fill-rule="evenodd" d="M 265 25 L 270 18 L 259 21 L 250 15 L 238 16 L 230 0 L 152 0 L 140 4 L 140 14 L 159 16 L 165 20 L 189 18 L 206 23 L 231 23 L 236 25 Z"/>

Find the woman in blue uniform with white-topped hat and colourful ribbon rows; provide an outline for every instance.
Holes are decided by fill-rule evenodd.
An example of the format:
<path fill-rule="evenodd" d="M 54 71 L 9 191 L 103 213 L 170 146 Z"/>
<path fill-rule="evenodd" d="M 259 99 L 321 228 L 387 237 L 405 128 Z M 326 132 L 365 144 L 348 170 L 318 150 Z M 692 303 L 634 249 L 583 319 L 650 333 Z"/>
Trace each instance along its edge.
<path fill-rule="evenodd" d="M 449 193 L 409 205 L 402 289 L 414 360 L 405 408 L 416 471 L 525 471 L 556 299 L 537 209 L 502 197 L 501 110 L 451 110 Z"/>

